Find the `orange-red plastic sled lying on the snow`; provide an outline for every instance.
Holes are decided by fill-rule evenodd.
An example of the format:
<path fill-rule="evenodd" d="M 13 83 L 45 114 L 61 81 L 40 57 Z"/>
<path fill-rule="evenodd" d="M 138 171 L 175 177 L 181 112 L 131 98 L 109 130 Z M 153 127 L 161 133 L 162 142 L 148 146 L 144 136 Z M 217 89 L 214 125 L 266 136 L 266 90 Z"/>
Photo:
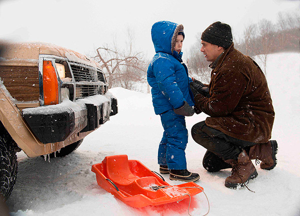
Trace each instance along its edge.
<path fill-rule="evenodd" d="M 138 160 L 128 160 L 125 154 L 106 156 L 92 165 L 91 171 L 99 186 L 132 207 L 180 201 L 203 191 L 194 182 L 172 186 Z"/>

